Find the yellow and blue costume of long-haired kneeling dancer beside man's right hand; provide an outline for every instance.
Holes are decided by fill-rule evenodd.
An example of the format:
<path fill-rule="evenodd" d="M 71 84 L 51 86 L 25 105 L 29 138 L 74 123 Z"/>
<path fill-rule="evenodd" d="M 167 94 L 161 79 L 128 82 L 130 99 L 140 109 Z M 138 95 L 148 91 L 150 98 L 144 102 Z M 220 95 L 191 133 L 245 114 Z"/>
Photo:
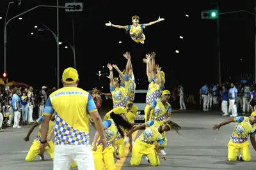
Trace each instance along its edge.
<path fill-rule="evenodd" d="M 102 145 L 98 145 L 100 138 L 97 140 L 97 150 L 93 151 L 93 159 L 95 164 L 95 170 L 102 170 L 104 169 L 104 164 L 106 170 L 115 170 L 115 160 L 113 153 L 115 149 L 112 146 L 112 142 L 116 138 L 116 134 L 118 129 L 115 125 L 115 122 L 109 118 L 103 122 L 103 126 L 106 132 L 106 140 L 108 147 L 102 152 Z M 93 146 L 93 145 L 92 145 Z"/>

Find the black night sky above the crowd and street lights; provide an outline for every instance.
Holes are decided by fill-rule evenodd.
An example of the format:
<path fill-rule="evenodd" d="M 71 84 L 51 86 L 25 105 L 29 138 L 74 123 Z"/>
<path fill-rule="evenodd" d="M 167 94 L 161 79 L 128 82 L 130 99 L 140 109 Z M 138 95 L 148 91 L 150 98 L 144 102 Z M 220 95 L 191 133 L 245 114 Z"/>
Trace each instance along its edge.
<path fill-rule="evenodd" d="M 60 6 L 71 0 L 60 0 Z M 216 20 L 201 20 L 201 10 L 211 10 L 211 1 L 193 3 L 190 1 L 84 1 L 83 12 L 77 12 L 75 19 L 77 71 L 83 89 L 108 87 L 108 79 L 100 78 L 96 73 L 108 71 L 109 62 L 123 69 L 126 60 L 122 54 L 131 52 L 136 79 L 147 88 L 146 66 L 142 59 L 145 53 L 156 52 L 157 63 L 166 74 L 166 88 L 177 84 L 177 80 L 188 87 L 193 83 L 199 89 L 204 83 L 217 83 Z M 134 1 L 135 2 L 135 1 Z M 154 2 L 154 3 L 153 3 Z M 157 2 L 157 3 L 156 3 Z M 232 10 L 253 8 L 244 1 L 220 1 L 220 13 Z M 251 1 L 252 5 L 255 3 Z M 22 0 L 17 8 L 10 7 L 9 18 L 38 4 L 56 5 L 50 0 Z M 7 3 L 0 2 L 0 16 L 4 17 Z M 189 17 L 185 17 L 188 14 Z M 131 17 L 139 15 L 141 23 L 157 20 L 164 22 L 147 27 L 144 31 L 144 45 L 131 40 L 124 30 L 106 27 L 112 24 L 131 24 Z M 45 24 L 56 32 L 56 9 L 38 8 L 15 19 L 8 25 L 7 72 L 9 80 L 24 81 L 34 87 L 42 85 L 56 86 L 56 42 L 51 32 L 38 32 L 35 25 Z M 241 73 L 250 73 L 254 69 L 254 31 L 255 18 L 248 13 L 221 15 L 220 49 L 222 80 Z M 3 26 L 0 20 L 1 49 L 3 61 Z M 30 33 L 34 32 L 33 35 Z M 184 39 L 179 39 L 183 36 Z M 60 9 L 60 41 L 72 43 L 72 20 L 65 10 Z M 119 44 L 118 41 L 122 41 Z M 63 69 L 74 66 L 70 48 L 60 45 L 60 76 Z M 179 50 L 180 53 L 175 53 Z M 242 59 L 242 61 L 241 61 Z M 0 70 L 3 70 L 3 62 Z M 188 89 L 188 88 L 187 88 Z"/>

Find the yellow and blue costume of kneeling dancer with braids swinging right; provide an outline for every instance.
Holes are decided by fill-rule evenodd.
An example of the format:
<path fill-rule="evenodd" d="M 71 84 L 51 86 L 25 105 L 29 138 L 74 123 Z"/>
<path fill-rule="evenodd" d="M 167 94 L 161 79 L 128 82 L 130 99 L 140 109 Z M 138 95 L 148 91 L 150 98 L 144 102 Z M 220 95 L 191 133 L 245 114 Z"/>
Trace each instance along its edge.
<path fill-rule="evenodd" d="M 138 166 L 143 155 L 148 157 L 151 166 L 159 166 L 160 160 L 156 153 L 156 144 L 163 145 L 163 134 L 158 131 L 159 125 L 156 125 L 154 120 L 146 122 L 146 129 L 136 139 L 132 148 L 131 166 Z"/>

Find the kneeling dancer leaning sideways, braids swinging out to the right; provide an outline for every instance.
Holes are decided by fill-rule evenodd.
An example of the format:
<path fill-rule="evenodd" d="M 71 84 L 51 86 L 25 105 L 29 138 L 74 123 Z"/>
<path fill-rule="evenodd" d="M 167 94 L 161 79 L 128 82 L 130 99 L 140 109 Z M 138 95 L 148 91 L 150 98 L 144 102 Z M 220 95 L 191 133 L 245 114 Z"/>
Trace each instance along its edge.
<path fill-rule="evenodd" d="M 157 155 L 166 160 L 165 155 L 161 155 L 160 147 L 164 142 L 163 133 L 175 129 L 179 134 L 181 127 L 175 122 L 168 120 L 163 125 L 158 125 L 154 120 L 149 120 L 145 124 L 136 126 L 127 134 L 131 135 L 139 129 L 146 128 L 139 138 L 136 139 L 132 147 L 131 166 L 139 166 L 143 155 L 148 157 L 151 166 L 159 166 L 160 161 Z"/>

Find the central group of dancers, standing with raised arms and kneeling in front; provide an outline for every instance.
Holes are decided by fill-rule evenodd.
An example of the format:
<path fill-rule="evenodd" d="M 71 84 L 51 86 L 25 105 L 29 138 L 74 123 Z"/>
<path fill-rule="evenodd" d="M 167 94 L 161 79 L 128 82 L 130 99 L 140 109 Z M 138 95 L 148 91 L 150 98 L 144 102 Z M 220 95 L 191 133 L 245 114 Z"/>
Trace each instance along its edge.
<path fill-rule="evenodd" d="M 108 64 L 110 91 L 113 98 L 113 110 L 106 113 L 103 125 L 106 132 L 108 146 L 102 150 L 99 133 L 96 132 L 93 143 L 93 158 L 95 169 L 115 169 L 115 159 L 125 157 L 125 137 L 129 138 L 131 151 L 131 166 L 138 166 L 143 155 L 146 155 L 152 166 L 159 166 L 159 157 L 166 159 L 166 132 L 175 129 L 179 133 L 180 126 L 170 120 L 172 107 L 168 103 L 170 91 L 164 90 L 165 75 L 161 67 L 156 65 L 156 53 L 146 55 L 143 62 L 147 64 L 148 93 L 146 96 L 145 124 L 134 125 L 138 107 L 133 103 L 136 85 L 132 70 L 131 55 L 124 54 L 127 64 L 121 71 L 115 64 Z M 115 69 L 119 77 L 113 76 Z M 91 124 L 93 122 L 91 120 Z M 145 129 L 133 142 L 132 132 Z"/>

